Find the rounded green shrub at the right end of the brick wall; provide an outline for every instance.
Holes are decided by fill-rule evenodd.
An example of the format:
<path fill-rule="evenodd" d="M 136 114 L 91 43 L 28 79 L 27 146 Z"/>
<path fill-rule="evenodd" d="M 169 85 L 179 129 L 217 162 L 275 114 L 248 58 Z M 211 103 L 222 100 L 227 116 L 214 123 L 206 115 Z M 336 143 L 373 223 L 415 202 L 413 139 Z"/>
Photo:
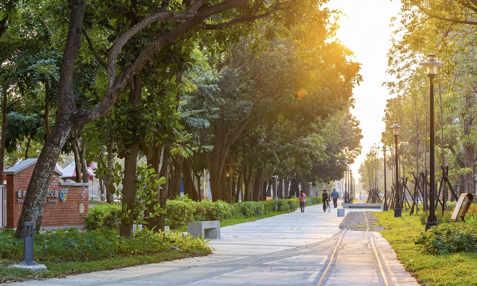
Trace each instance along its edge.
<path fill-rule="evenodd" d="M 89 209 L 88 215 L 83 219 L 87 231 L 117 228 L 121 217 L 121 206 L 119 204 L 98 204 Z"/>

